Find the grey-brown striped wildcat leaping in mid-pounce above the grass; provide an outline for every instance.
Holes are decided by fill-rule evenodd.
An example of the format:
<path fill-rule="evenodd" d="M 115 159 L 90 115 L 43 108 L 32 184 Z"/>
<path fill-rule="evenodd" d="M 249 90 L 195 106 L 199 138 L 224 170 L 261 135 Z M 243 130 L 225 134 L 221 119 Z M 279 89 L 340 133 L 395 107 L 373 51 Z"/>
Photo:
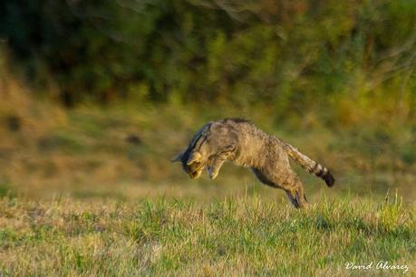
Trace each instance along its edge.
<path fill-rule="evenodd" d="M 289 157 L 307 172 L 323 178 L 327 186 L 334 186 L 334 176 L 326 167 L 245 119 L 208 122 L 172 162 L 180 162 L 191 178 L 198 178 L 207 167 L 209 178 L 214 179 L 229 160 L 237 166 L 249 167 L 263 184 L 284 189 L 295 207 L 304 207 L 307 205 L 304 186 L 290 167 Z"/>

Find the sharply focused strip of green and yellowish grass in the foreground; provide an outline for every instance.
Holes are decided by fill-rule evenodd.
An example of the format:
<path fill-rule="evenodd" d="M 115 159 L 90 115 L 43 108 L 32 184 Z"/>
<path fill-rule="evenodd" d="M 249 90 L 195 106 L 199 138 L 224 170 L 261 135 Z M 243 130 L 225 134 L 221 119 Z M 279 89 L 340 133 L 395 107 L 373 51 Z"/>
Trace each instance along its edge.
<path fill-rule="evenodd" d="M 0 200 L 0 275 L 402 275 L 416 268 L 416 218 L 397 198 L 341 196 L 305 210 L 259 196 L 207 203 L 63 197 Z M 374 264 L 375 267 L 375 264 Z"/>

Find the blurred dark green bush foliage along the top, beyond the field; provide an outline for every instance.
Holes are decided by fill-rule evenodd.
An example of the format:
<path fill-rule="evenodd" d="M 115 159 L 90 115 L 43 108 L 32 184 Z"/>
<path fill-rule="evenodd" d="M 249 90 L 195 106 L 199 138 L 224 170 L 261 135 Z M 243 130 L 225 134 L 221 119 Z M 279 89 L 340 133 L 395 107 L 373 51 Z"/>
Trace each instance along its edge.
<path fill-rule="evenodd" d="M 387 100 L 380 110 L 406 117 L 415 104 L 415 0 L 1 5 L 2 44 L 67 105 L 260 102 L 283 114 L 335 103 L 345 118 L 352 103 L 340 99 L 359 109 Z"/>

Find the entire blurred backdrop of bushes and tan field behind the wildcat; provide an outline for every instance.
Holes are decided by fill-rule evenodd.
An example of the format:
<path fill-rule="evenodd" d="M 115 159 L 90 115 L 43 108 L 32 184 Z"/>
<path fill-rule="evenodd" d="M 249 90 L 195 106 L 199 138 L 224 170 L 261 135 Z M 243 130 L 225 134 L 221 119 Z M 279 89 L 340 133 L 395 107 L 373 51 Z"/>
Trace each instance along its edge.
<path fill-rule="evenodd" d="M 317 201 L 416 196 L 416 1 L 3 1 L 0 196 L 209 199 L 243 168 L 169 163 L 200 125 L 243 117 L 334 171 Z"/>

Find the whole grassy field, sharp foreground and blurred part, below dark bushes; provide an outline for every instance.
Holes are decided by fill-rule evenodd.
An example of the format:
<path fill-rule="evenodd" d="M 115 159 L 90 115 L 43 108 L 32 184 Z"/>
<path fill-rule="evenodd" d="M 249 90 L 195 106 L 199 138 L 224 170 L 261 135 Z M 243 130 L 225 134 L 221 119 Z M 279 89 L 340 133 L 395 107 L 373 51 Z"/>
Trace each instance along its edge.
<path fill-rule="evenodd" d="M 381 261 L 416 275 L 409 122 L 328 128 L 314 115 L 281 123 L 273 109 L 61 110 L 18 91 L 0 106 L 0 276 L 405 271 L 376 269 Z M 334 188 L 294 165 L 312 204 L 295 210 L 245 168 L 190 180 L 169 162 L 201 124 L 228 116 L 330 167 Z M 373 269 L 347 270 L 349 262 Z"/>

